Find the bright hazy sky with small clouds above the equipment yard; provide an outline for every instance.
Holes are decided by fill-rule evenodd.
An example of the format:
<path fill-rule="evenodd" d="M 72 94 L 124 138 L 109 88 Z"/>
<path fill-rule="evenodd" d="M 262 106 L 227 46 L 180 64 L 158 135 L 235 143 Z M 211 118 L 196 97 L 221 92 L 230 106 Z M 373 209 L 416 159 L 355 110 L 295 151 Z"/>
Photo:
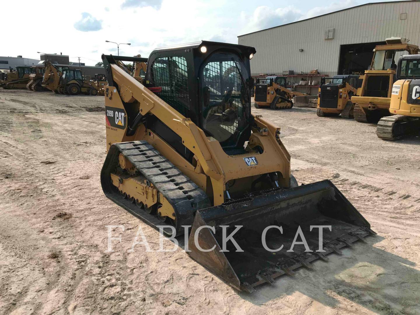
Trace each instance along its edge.
<path fill-rule="evenodd" d="M 147 57 L 158 46 L 237 36 L 375 0 L 73 0 L 1 1 L 0 56 L 39 59 L 63 53 L 93 66 L 102 53 Z M 290 5 L 290 3 L 293 3 Z M 286 43 L 287 44 L 287 43 Z"/>

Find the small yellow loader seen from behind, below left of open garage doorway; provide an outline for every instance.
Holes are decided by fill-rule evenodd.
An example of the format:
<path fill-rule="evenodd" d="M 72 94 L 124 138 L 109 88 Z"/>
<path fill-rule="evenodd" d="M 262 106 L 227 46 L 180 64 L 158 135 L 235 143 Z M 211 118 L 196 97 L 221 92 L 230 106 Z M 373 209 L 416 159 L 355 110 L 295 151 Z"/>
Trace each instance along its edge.
<path fill-rule="evenodd" d="M 353 95 L 357 95 L 357 88 L 360 87 L 362 81 L 363 76 L 355 75 L 321 78 L 316 114 L 319 117 L 341 114 L 342 118 L 354 118 L 354 104 L 350 100 Z"/>

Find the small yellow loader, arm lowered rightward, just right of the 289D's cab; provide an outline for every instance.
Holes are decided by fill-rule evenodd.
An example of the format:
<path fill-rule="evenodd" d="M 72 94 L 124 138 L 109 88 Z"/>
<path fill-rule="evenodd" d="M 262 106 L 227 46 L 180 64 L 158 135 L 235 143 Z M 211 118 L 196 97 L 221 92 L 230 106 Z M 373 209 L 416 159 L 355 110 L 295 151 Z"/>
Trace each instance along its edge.
<path fill-rule="evenodd" d="M 254 107 L 286 109 L 293 107 L 293 97 L 307 94 L 294 92 L 286 88 L 285 76 L 257 78 L 254 89 Z"/>

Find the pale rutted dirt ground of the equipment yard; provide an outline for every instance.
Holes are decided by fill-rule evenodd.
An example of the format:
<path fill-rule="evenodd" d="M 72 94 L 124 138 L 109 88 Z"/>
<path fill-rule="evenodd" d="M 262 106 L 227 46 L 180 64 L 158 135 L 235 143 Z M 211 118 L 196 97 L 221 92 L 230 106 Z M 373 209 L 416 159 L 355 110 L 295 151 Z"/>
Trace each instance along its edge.
<path fill-rule="evenodd" d="M 152 249 L 159 234 L 102 193 L 103 97 L 0 89 L 0 314 L 420 314 L 420 138 L 252 111 L 282 127 L 299 183 L 331 179 L 378 236 L 253 294 L 179 248 L 128 252 L 139 226 Z M 108 225 L 125 227 L 111 253 Z"/>

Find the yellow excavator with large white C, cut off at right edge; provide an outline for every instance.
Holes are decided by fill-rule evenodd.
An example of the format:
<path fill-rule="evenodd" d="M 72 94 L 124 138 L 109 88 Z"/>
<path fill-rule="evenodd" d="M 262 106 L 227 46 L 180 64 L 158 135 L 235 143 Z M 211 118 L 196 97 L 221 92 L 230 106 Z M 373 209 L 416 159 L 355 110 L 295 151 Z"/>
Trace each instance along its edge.
<path fill-rule="evenodd" d="M 397 81 L 392 86 L 389 112 L 376 127 L 376 134 L 384 140 L 395 140 L 420 132 L 420 55 L 399 58 Z"/>

